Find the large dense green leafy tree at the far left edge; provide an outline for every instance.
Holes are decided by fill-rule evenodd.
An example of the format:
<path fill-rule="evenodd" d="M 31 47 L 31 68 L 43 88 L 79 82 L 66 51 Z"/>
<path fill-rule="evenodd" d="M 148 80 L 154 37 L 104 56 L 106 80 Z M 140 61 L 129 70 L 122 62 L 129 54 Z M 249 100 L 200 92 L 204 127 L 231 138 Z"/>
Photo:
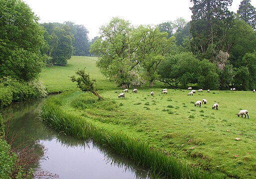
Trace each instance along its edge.
<path fill-rule="evenodd" d="M 21 0 L 0 0 L 0 77 L 28 81 L 45 65 L 47 43 L 38 17 Z"/>

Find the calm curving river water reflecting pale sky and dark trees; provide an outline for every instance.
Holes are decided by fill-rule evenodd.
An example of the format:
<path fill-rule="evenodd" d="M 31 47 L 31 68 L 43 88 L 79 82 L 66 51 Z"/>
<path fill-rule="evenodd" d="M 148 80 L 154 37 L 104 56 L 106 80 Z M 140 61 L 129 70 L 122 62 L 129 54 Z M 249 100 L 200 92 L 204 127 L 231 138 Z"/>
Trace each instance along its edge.
<path fill-rule="evenodd" d="M 12 146 L 30 146 L 40 153 L 32 165 L 34 178 L 150 178 L 131 160 L 46 126 L 38 117 L 41 102 L 12 104 L 2 111 Z"/>

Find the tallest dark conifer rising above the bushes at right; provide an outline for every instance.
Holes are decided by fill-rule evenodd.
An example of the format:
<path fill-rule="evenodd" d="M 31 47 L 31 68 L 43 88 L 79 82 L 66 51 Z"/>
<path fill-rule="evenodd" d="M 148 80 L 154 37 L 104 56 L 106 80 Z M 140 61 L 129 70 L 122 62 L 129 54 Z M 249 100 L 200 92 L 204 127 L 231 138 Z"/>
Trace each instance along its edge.
<path fill-rule="evenodd" d="M 226 50 L 226 33 L 233 16 L 227 9 L 232 0 L 190 0 L 193 6 L 190 32 L 191 47 L 201 58 L 214 59 L 219 50 Z"/>

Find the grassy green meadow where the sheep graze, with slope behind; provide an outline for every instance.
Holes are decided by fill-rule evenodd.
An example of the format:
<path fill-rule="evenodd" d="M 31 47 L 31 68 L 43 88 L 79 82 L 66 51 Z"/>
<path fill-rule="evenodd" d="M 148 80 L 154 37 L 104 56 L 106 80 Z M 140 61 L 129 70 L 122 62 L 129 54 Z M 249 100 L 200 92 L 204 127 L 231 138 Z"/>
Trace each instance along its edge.
<path fill-rule="evenodd" d="M 54 96 L 58 101 L 54 105 L 106 131 L 122 132 L 145 142 L 150 149 L 192 168 L 227 178 L 256 178 L 256 93 L 204 90 L 188 96 L 185 89 L 168 89 L 168 94 L 161 94 L 165 86 L 156 83 L 153 88 L 138 88 L 137 93 L 129 88 L 124 98 L 118 98 L 122 89 L 105 79 L 95 60 L 72 56 L 66 66 L 43 69 L 40 80 L 48 92 L 67 91 Z M 83 67 L 96 79 L 104 100 L 80 92 L 69 79 L 77 68 Z M 150 95 L 151 90 L 154 96 Z M 202 98 L 207 103 L 195 107 L 194 102 Z M 219 104 L 218 110 L 211 108 L 213 103 Z M 249 111 L 249 119 L 237 116 L 240 109 Z"/>

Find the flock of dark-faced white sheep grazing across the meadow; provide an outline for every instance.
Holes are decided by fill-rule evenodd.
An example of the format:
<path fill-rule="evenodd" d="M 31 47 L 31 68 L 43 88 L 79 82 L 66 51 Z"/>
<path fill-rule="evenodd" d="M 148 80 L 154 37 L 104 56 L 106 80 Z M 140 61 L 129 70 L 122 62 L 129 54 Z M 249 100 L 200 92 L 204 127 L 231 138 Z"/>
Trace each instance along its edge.
<path fill-rule="evenodd" d="M 196 90 L 192 89 L 192 87 L 188 87 L 187 90 L 191 90 L 190 92 L 187 93 L 187 95 L 193 95 L 193 93 L 195 93 L 195 91 L 196 91 Z M 235 90 L 235 88 L 230 88 L 230 90 Z M 202 92 L 202 91 L 203 91 L 202 89 L 198 89 L 198 90 L 197 90 L 197 92 Z M 125 93 L 125 92 L 128 92 L 128 89 L 123 89 L 122 93 L 120 93 L 120 94 L 118 95 L 118 98 L 124 97 L 124 95 L 125 95 L 124 93 Z M 137 89 L 133 89 L 132 92 L 136 93 L 136 92 L 138 92 L 138 90 L 137 90 Z M 210 92 L 210 89 L 208 89 L 207 92 Z M 255 92 L 255 89 L 253 89 L 253 92 Z M 167 89 L 166 89 L 166 88 L 165 88 L 165 89 L 162 89 L 161 93 L 162 93 L 162 94 L 167 94 Z M 151 92 L 150 92 L 150 95 L 153 96 L 153 95 L 154 95 L 154 92 L 151 91 Z M 201 104 L 202 104 L 202 103 L 203 103 L 203 104 L 206 104 L 206 102 L 207 102 L 207 100 L 203 98 L 202 101 L 197 100 L 197 101 L 194 103 L 194 106 L 199 106 L 199 107 L 201 107 Z M 214 103 L 213 106 L 212 106 L 212 109 L 218 110 L 218 103 Z M 241 117 L 242 117 L 242 115 L 244 115 L 244 118 L 246 118 L 246 115 L 247 115 L 247 118 L 249 118 L 248 110 L 245 110 L 245 109 L 244 109 L 244 110 L 240 110 L 240 112 L 237 114 L 237 116 L 239 117 L 240 115 L 241 115 Z"/>

